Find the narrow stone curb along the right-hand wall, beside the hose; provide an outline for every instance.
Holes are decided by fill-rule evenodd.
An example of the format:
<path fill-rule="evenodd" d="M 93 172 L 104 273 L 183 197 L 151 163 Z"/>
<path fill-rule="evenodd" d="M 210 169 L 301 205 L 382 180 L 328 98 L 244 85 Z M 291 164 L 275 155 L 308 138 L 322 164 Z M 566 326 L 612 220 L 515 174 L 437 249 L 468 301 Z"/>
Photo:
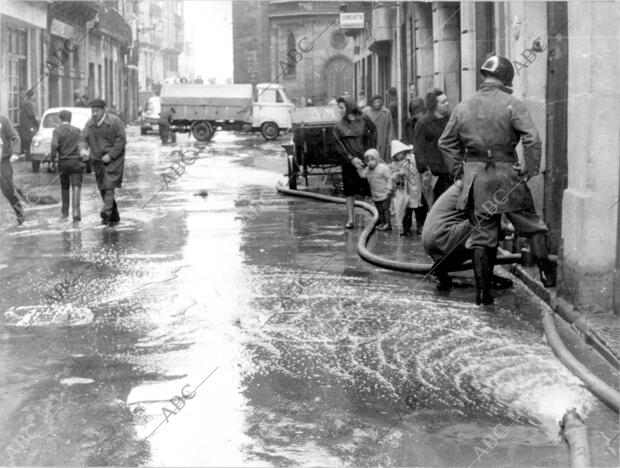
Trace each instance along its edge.
<path fill-rule="evenodd" d="M 507 251 L 503 249 L 500 249 L 500 251 L 502 253 L 507 253 Z M 609 364 L 616 370 L 620 370 L 620 360 L 613 352 L 613 348 L 601 338 L 585 315 L 578 312 L 568 301 L 558 297 L 555 291 L 546 289 L 521 265 L 514 264 L 508 266 L 508 269 L 512 274 L 523 281 L 534 294 L 545 301 L 557 315 L 568 322 L 571 327 L 585 339 L 586 343 L 596 349 Z"/>

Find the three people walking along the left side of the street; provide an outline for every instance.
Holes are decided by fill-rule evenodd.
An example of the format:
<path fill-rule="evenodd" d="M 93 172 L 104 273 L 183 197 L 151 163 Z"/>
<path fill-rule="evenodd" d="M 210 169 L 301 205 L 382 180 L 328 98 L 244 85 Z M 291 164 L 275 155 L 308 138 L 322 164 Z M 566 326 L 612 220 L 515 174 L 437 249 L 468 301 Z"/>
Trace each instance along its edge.
<path fill-rule="evenodd" d="M 71 202 L 74 221 L 81 220 L 80 195 L 85 162 L 92 160 L 95 179 L 103 207 L 101 222 L 113 226 L 120 222 L 115 189 L 123 179 L 125 163 L 125 124 L 110 112 L 102 99 L 90 101 L 92 117 L 83 129 L 71 125 L 71 112 L 60 112 L 60 124 L 54 129 L 51 145 L 51 162 L 57 162 L 61 187 L 61 215 L 69 216 Z M 11 121 L 0 114 L 0 188 L 15 211 L 18 224 L 25 219 L 23 202 L 19 199 L 20 190 L 13 181 L 12 164 L 19 159 L 22 146 L 19 135 Z M 29 146 L 29 144 L 28 144 Z"/>

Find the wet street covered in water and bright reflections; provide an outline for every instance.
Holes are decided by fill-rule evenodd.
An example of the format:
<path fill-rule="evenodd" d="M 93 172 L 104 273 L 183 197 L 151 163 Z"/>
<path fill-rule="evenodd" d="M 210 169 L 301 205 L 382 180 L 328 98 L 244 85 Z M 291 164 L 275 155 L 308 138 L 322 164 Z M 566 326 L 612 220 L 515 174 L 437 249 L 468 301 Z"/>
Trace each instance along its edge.
<path fill-rule="evenodd" d="M 567 466 L 570 408 L 617 465 L 617 414 L 520 283 L 480 308 L 468 273 L 438 293 L 365 263 L 365 213 L 346 231 L 344 207 L 276 193 L 285 138 L 220 132 L 183 165 L 187 135 L 128 135 L 118 226 L 92 174 L 78 225 L 0 202 L 1 465 Z M 395 232 L 370 248 L 428 261 Z"/>

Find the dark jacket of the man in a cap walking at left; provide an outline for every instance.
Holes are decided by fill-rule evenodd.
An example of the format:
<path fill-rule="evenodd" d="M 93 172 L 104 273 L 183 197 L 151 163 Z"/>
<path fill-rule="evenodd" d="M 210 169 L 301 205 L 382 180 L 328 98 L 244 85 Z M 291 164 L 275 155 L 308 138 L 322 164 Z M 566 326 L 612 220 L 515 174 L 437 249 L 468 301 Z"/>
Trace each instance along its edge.
<path fill-rule="evenodd" d="M 101 162 L 104 155 L 110 156 L 112 161 L 104 165 L 107 182 L 120 187 L 125 165 L 125 125 L 122 120 L 106 113 L 101 125 L 97 126 L 91 117 L 82 131 L 82 140 L 90 147 L 95 164 Z"/>

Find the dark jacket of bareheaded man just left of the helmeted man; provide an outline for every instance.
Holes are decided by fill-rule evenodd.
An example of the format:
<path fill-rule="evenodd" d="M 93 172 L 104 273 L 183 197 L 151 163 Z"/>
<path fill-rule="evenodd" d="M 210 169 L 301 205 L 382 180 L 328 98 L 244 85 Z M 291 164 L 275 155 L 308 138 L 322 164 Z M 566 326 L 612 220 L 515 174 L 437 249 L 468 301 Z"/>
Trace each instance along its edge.
<path fill-rule="evenodd" d="M 432 112 L 429 112 L 416 124 L 413 151 L 419 171 L 424 172 L 428 168 L 433 175 L 450 173 L 437 146 L 448 119 L 448 116 L 437 118 Z"/>

